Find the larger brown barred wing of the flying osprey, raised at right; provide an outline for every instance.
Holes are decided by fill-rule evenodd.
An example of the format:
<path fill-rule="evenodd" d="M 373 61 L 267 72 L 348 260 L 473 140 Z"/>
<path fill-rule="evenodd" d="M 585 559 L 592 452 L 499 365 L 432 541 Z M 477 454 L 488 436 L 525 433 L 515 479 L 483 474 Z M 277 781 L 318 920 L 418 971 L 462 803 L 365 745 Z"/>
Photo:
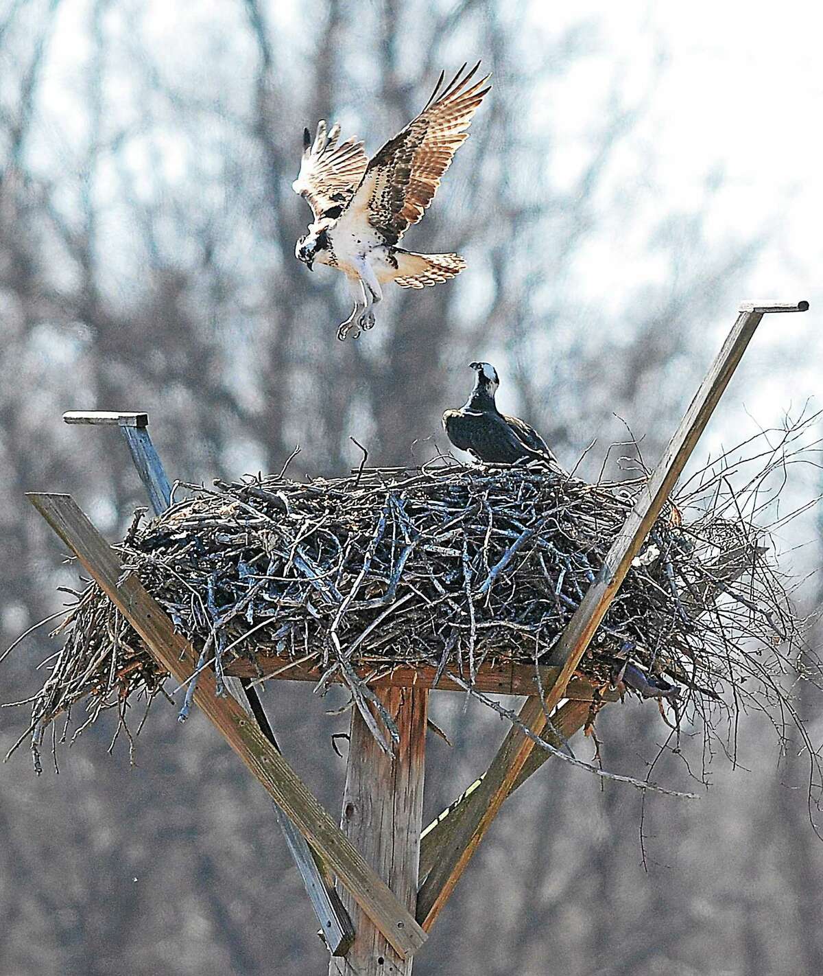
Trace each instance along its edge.
<path fill-rule="evenodd" d="M 470 84 L 480 61 L 468 72 L 464 64 L 444 87 L 441 73 L 425 108 L 373 156 L 351 210 L 363 208 L 369 223 L 389 244 L 396 244 L 431 203 L 457 147 L 483 97 L 489 75 Z"/>

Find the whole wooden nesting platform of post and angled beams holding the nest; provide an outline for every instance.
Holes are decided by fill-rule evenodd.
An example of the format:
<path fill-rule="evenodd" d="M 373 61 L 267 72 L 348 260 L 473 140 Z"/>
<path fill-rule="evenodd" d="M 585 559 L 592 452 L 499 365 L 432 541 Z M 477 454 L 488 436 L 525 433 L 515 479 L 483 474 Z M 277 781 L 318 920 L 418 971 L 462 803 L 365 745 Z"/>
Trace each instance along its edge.
<path fill-rule="evenodd" d="M 265 716 L 258 712 L 258 702 L 255 705 L 251 666 L 238 662 L 227 670 L 228 681 L 238 682 L 239 687 L 229 685 L 237 700 L 218 697 L 215 673 L 209 669 L 200 672 L 195 703 L 282 811 L 281 826 L 333 953 L 331 973 L 411 973 L 412 957 L 424 944 L 503 801 L 547 757 L 546 752 L 534 752 L 534 740 L 523 729 L 531 736 L 544 735 L 549 742 L 560 742 L 558 737 L 568 739 L 585 722 L 591 688 L 574 676 L 575 671 L 761 319 L 766 312 L 807 307 L 807 303 L 741 307 L 647 487 L 608 550 L 604 566 L 574 611 L 551 667 L 543 669 L 543 696 L 532 693 L 533 666 L 479 669 L 478 686 L 484 690 L 528 696 L 518 716 L 521 727 L 512 726 L 488 770 L 425 831 L 421 831 L 425 729 L 433 669 L 399 666 L 388 669 L 372 684 L 382 709 L 398 730 L 393 757 L 380 750 L 363 715 L 353 710 L 340 827 L 279 752 Z M 71 420 L 96 423 L 94 415 L 75 414 Z M 147 418 L 110 414 L 104 423 L 139 432 L 137 437 L 124 436 L 153 507 L 162 510 L 169 501 L 168 479 L 148 440 Z M 137 631 L 158 665 L 177 681 L 188 679 L 198 664 L 195 648 L 176 631 L 136 575 L 122 574 L 118 554 L 73 500 L 43 493 L 28 497 Z M 282 679 L 317 677 L 315 666 L 301 669 L 277 656 L 270 656 L 264 669 L 270 677 Z M 441 688 L 444 686 L 438 685 L 437 690 Z M 546 735 L 550 714 L 554 731 Z M 339 885 L 339 897 L 333 879 Z M 337 957 L 342 955 L 345 963 Z"/>

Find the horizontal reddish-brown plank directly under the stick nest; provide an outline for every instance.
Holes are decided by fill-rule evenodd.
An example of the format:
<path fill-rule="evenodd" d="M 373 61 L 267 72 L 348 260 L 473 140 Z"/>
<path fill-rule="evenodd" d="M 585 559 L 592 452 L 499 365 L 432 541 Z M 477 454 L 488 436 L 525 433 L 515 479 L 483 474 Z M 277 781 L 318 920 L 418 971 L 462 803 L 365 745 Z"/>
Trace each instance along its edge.
<path fill-rule="evenodd" d="M 256 665 L 246 658 L 239 658 L 225 666 L 226 674 L 238 677 L 256 677 L 259 674 L 284 681 L 319 681 L 324 669 L 317 662 L 293 662 L 287 657 L 277 655 L 258 654 L 255 656 Z M 397 665 L 386 671 L 385 667 L 365 664 L 354 666 L 355 671 L 362 678 L 369 679 L 372 688 L 431 688 L 437 674 L 437 669 L 428 665 L 411 667 Z M 544 688 L 553 684 L 560 673 L 559 666 L 540 667 L 540 681 Z M 373 676 L 372 675 L 376 675 Z M 343 680 L 341 675 L 332 679 L 336 682 Z M 465 675 L 469 680 L 468 674 Z M 484 693 L 495 695 L 533 695 L 537 687 L 534 665 L 518 665 L 512 663 L 495 663 L 485 661 L 477 670 L 477 677 L 473 687 Z M 462 691 L 465 687 L 458 684 L 447 673 L 441 675 L 436 691 Z M 592 700 L 592 686 L 588 681 L 572 678 L 568 682 L 567 698 Z"/>

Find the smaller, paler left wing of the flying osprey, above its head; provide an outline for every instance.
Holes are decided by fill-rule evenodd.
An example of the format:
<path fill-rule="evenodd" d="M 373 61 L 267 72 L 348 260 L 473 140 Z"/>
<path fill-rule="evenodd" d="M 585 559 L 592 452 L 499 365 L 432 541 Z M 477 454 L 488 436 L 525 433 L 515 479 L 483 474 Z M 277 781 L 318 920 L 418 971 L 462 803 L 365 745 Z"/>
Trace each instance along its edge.
<path fill-rule="evenodd" d="M 327 133 L 324 121 L 317 125 L 314 142 L 308 129 L 303 133 L 303 158 L 292 188 L 305 197 L 315 220 L 340 216 L 363 180 L 369 162 L 363 142 L 347 139 L 338 145 L 339 135 L 338 125 Z"/>

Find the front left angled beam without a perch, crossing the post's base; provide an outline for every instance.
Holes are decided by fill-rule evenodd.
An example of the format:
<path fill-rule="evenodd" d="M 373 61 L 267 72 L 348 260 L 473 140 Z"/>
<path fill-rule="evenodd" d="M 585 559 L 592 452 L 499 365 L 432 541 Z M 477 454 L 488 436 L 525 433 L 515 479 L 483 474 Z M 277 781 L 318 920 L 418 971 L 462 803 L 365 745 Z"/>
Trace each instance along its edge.
<path fill-rule="evenodd" d="M 136 576 L 121 579 L 120 560 L 70 495 L 27 496 L 59 538 L 142 637 L 158 663 L 177 681 L 197 667 L 197 654 Z M 256 721 L 231 697 L 218 698 L 215 675 L 201 671 L 194 701 L 211 719 L 294 826 L 309 841 L 399 956 L 411 956 L 426 934 L 388 885 L 333 823 Z"/>

